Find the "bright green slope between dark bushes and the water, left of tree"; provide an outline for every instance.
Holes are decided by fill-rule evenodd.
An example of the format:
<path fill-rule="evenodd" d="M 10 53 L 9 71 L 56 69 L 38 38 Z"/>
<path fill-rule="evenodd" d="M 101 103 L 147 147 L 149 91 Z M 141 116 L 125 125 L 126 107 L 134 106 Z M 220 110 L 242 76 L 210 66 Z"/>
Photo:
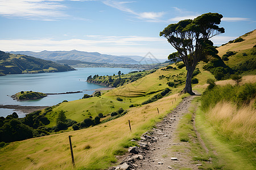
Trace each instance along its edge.
<path fill-rule="evenodd" d="M 142 79 L 139 79 L 133 83 L 104 92 L 105 94 L 100 97 L 91 97 L 88 99 L 80 99 L 69 101 L 68 103 L 61 103 L 59 106 L 53 108 L 52 112 L 46 114 L 46 117 L 48 117 L 51 121 L 51 123 L 47 126 L 52 127 L 56 124 L 56 113 L 61 110 L 66 111 L 65 115 L 67 118 L 71 118 L 72 120 L 80 122 L 89 116 L 94 118 L 98 116 L 98 113 L 103 113 L 104 115 L 112 113 L 113 111 L 117 111 L 120 107 L 123 109 L 129 109 L 129 105 L 141 104 L 143 101 L 150 99 L 150 97 L 167 88 L 168 85 L 166 83 L 168 81 L 174 79 L 185 80 L 184 73 L 185 68 L 170 71 L 163 71 L 159 69 L 155 73 L 146 75 Z M 159 75 L 164 75 L 166 77 L 171 75 L 176 76 L 168 79 L 159 79 Z M 206 79 L 203 79 L 203 81 L 204 82 L 200 81 L 200 83 L 205 84 Z M 162 85 L 159 86 L 159 84 Z M 184 83 L 180 84 L 180 86 L 177 86 L 177 88 L 168 88 L 173 90 L 172 94 L 176 94 L 177 92 L 181 91 L 182 88 L 184 88 Z M 148 94 L 150 92 L 156 93 Z M 117 101 L 117 96 L 121 97 L 123 101 Z"/>

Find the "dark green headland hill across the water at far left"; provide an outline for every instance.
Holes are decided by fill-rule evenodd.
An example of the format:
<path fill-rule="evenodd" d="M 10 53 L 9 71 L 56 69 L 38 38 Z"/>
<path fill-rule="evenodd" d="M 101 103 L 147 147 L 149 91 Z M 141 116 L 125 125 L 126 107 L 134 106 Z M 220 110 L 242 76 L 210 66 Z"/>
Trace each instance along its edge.
<path fill-rule="evenodd" d="M 44 59 L 0 51 L 0 75 L 48 73 L 72 70 L 75 69 L 68 65 L 60 65 Z"/>

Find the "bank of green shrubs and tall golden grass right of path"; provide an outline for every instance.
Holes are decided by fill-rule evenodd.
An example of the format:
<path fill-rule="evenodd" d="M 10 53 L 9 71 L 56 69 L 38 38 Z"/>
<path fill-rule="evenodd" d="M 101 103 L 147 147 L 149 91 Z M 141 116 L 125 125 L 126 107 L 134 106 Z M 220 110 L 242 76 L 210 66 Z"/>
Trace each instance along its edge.
<path fill-rule="evenodd" d="M 216 133 L 232 150 L 256 165 L 256 83 L 226 85 L 206 91 L 201 109 Z"/>

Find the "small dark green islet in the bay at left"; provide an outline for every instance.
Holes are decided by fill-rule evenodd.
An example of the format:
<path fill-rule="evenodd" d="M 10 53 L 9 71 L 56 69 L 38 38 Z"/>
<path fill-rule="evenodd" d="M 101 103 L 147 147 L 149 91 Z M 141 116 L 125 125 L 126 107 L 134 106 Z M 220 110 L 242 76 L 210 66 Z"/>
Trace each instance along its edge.
<path fill-rule="evenodd" d="M 46 94 L 42 92 L 34 92 L 34 91 L 21 91 L 12 95 L 11 97 L 17 101 L 24 101 L 24 100 L 36 100 L 46 97 Z"/>

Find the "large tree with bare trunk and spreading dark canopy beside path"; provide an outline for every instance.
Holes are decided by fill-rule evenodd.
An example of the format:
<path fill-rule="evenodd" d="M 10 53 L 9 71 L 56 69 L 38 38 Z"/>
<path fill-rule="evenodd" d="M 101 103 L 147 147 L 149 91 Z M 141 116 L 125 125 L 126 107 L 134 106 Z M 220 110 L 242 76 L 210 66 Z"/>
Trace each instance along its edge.
<path fill-rule="evenodd" d="M 218 51 L 213 47 L 213 42 L 209 39 L 225 29 L 218 27 L 223 16 L 218 13 L 207 13 L 191 20 L 181 20 L 179 23 L 170 24 L 160 36 L 166 37 L 168 42 L 177 50 L 170 54 L 168 59 L 180 58 L 187 69 L 187 79 L 184 93 L 194 95 L 191 87 L 191 79 L 196 65 L 206 56 L 217 55 Z"/>

